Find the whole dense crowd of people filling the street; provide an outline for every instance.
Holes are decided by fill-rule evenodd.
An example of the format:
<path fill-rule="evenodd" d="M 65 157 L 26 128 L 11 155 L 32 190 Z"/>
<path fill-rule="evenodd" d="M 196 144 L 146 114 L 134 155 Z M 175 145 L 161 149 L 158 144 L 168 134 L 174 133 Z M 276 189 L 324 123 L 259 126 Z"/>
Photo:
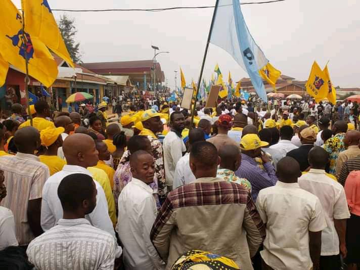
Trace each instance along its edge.
<path fill-rule="evenodd" d="M 1 269 L 360 269 L 356 102 L 127 101 L 11 105 Z"/>

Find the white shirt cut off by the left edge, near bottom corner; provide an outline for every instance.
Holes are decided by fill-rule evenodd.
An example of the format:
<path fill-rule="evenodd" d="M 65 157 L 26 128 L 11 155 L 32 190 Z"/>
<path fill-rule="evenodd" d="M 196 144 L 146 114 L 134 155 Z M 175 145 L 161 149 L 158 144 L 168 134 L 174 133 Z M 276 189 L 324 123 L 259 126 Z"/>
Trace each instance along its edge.
<path fill-rule="evenodd" d="M 18 245 L 13 212 L 6 207 L 0 206 L 0 250 Z"/>

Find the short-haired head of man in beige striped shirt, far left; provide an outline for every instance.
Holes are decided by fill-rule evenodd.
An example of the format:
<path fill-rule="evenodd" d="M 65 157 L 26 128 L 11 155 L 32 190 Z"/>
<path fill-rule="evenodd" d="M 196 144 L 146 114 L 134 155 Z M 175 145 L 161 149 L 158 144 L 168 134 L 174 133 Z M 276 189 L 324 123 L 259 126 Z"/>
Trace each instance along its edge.
<path fill-rule="evenodd" d="M 34 154 L 41 144 L 40 132 L 32 126 L 20 128 L 15 132 L 14 143 L 19 152 Z"/>

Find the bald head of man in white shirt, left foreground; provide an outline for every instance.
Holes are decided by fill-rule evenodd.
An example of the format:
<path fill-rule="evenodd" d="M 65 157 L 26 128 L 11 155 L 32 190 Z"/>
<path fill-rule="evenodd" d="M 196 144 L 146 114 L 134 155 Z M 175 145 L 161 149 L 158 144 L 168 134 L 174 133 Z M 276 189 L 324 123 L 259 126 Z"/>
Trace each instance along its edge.
<path fill-rule="evenodd" d="M 68 165 L 87 168 L 95 166 L 99 161 L 95 142 L 86 134 L 75 133 L 66 137 L 63 151 Z"/>

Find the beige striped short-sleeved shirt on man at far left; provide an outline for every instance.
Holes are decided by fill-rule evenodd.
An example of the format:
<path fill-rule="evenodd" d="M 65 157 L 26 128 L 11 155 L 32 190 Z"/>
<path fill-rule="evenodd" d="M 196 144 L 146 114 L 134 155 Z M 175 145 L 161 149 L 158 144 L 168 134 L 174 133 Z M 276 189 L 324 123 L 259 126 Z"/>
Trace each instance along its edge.
<path fill-rule="evenodd" d="M 27 219 L 28 202 L 42 197 L 42 187 L 50 176 L 49 168 L 38 157 L 18 152 L 15 156 L 0 157 L 0 169 L 4 171 L 7 187 L 7 196 L 1 205 L 14 213 L 19 245 L 28 245 L 34 239 Z"/>

